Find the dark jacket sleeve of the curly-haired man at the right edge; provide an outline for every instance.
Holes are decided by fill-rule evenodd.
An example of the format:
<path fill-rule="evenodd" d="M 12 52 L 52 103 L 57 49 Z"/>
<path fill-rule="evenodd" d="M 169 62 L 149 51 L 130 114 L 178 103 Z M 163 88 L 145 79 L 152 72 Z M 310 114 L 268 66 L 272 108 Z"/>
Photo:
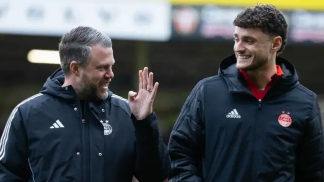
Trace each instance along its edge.
<path fill-rule="evenodd" d="M 297 147 L 296 182 L 324 181 L 324 133 L 318 102 L 306 121 L 304 136 Z"/>

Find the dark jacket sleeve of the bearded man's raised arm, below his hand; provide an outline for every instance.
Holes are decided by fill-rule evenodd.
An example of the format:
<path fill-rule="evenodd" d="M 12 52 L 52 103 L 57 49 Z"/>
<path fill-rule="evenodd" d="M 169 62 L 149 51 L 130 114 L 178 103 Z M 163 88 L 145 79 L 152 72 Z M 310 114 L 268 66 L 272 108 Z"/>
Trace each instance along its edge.
<path fill-rule="evenodd" d="M 132 118 L 136 137 L 135 177 L 140 182 L 168 179 L 170 158 L 167 145 L 159 133 L 155 113 L 142 121 L 136 121 L 133 115 Z"/>

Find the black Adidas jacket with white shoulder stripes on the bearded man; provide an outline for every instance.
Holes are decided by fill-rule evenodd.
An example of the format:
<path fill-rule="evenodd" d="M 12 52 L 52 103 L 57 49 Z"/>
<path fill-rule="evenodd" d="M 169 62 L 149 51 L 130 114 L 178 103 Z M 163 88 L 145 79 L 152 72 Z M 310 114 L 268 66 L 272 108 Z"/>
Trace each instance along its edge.
<path fill-rule="evenodd" d="M 109 91 L 86 102 L 57 70 L 41 93 L 18 104 L 0 141 L 0 181 L 161 182 L 170 159 L 152 113 L 136 121 L 128 101 Z M 31 170 L 30 170 L 31 169 Z M 32 180 L 33 179 L 33 180 Z"/>

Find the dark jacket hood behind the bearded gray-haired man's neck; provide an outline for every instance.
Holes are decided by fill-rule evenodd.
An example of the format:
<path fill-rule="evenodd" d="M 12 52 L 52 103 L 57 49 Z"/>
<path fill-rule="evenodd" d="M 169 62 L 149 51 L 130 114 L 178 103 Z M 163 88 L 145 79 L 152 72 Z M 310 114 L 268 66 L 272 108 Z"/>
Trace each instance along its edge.
<path fill-rule="evenodd" d="M 77 100 L 77 95 L 71 85 L 67 87 L 62 87 L 65 77 L 63 70 L 58 68 L 53 74 L 46 80 L 41 93 L 49 94 L 55 97 L 59 97 L 65 100 L 75 101 Z M 108 98 L 112 95 L 112 92 L 109 91 Z M 107 98 L 107 99 L 108 99 Z"/>

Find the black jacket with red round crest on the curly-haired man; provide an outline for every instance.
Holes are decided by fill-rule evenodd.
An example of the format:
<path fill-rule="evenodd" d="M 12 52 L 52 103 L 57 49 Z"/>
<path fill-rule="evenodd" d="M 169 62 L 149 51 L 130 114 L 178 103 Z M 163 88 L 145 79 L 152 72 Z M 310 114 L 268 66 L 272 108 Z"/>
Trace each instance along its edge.
<path fill-rule="evenodd" d="M 235 63 L 234 55 L 223 60 L 183 105 L 169 142 L 170 181 L 324 181 L 316 94 L 278 58 L 285 75 L 258 100 Z"/>

